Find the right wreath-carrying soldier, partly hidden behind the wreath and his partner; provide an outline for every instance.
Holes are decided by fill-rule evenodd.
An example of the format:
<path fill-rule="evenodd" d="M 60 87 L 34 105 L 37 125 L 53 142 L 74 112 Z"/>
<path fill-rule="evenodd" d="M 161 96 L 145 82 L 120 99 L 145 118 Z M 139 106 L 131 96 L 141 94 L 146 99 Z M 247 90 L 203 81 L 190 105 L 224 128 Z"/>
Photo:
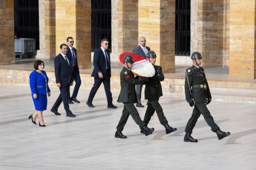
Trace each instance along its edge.
<path fill-rule="evenodd" d="M 149 103 L 143 122 L 147 125 L 156 111 L 160 123 L 165 127 L 166 134 L 170 134 L 171 132 L 177 131 L 177 129 L 169 126 L 165 115 L 163 115 L 163 109 L 158 102 L 159 97 L 163 96 L 161 81 L 163 81 L 165 77 L 162 73 L 162 67 L 155 65 L 156 58 L 157 55 L 155 55 L 154 51 L 147 52 L 147 61 L 151 62 L 154 66 L 155 75 L 148 78 L 148 82 L 145 86 L 145 100 L 148 100 Z M 143 133 L 143 131 L 141 130 L 140 133 Z"/>

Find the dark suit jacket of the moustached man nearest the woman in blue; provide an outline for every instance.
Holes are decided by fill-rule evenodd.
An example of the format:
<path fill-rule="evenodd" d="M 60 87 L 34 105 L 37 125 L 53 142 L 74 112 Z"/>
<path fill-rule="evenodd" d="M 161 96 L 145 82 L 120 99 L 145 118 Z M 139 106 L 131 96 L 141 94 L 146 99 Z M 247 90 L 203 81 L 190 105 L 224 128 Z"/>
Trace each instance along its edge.
<path fill-rule="evenodd" d="M 66 56 L 69 63 L 71 63 L 71 59 L 68 57 L 68 55 Z M 61 54 L 54 58 L 54 69 L 56 84 L 69 84 L 74 81 L 72 77 L 72 69 Z"/>

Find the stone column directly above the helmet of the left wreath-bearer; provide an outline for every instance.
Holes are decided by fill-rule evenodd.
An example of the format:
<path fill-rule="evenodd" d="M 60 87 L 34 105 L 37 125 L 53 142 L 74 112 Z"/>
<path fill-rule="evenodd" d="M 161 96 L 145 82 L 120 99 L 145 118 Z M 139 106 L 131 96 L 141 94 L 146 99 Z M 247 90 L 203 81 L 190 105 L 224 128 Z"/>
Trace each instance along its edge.
<path fill-rule="evenodd" d="M 118 0 L 118 55 L 137 46 L 138 0 Z"/>

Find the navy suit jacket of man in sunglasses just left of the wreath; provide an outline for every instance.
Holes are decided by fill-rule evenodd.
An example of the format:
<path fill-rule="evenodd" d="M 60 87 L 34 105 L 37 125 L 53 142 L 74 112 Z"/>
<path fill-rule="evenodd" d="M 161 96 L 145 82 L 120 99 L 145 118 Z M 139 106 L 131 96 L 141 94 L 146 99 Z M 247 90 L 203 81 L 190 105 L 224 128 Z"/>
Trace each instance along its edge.
<path fill-rule="evenodd" d="M 109 59 L 109 77 L 111 77 L 111 67 L 110 67 L 110 53 L 107 50 L 108 59 Z M 96 50 L 93 55 L 93 73 L 91 74 L 91 77 L 99 78 L 99 72 L 103 74 L 103 77 L 106 73 L 106 58 L 101 48 Z"/>

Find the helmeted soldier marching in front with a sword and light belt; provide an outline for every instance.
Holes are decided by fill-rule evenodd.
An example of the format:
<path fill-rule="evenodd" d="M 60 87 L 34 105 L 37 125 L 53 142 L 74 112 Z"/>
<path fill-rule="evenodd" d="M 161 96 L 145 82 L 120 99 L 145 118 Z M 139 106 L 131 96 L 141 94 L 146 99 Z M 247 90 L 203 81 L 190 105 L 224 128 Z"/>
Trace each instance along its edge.
<path fill-rule="evenodd" d="M 194 106 L 191 118 L 188 120 L 185 128 L 184 142 L 198 142 L 193 139 L 191 134 L 196 125 L 197 119 L 202 114 L 204 120 L 211 127 L 212 132 L 216 132 L 218 139 L 221 140 L 230 135 L 229 132 L 222 132 L 218 125 L 214 123 L 213 117 L 206 105 L 211 102 L 211 92 L 204 74 L 204 69 L 200 67 L 202 63 L 202 55 L 199 52 L 194 52 L 191 55 L 193 60 L 192 67 L 189 67 L 185 76 L 185 96 L 191 107 Z M 192 86 L 192 93 L 191 93 Z"/>

